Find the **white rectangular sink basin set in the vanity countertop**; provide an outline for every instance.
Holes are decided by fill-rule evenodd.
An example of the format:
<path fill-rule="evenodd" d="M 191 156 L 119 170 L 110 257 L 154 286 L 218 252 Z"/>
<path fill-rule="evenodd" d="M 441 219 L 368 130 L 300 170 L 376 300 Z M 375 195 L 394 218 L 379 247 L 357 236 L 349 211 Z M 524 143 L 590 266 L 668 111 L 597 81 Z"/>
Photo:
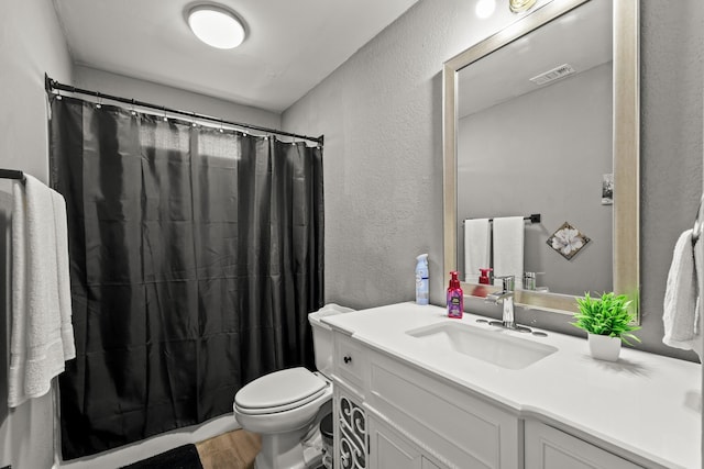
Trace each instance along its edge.
<path fill-rule="evenodd" d="M 503 368 L 519 370 L 554 354 L 551 345 L 514 337 L 504 330 L 487 331 L 462 323 L 441 323 L 406 334 L 430 347 L 460 353 Z"/>

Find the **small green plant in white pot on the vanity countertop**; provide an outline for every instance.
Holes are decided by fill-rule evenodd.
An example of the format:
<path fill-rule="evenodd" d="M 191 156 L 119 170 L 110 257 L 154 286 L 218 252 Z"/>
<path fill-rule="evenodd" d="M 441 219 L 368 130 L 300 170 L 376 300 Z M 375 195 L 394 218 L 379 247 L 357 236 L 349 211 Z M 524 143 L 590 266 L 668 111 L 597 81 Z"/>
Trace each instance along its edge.
<path fill-rule="evenodd" d="M 616 361 L 620 353 L 620 343 L 632 345 L 628 339 L 640 342 L 632 332 L 640 327 L 634 323 L 630 311 L 631 300 L 625 294 L 604 293 L 592 298 L 588 292 L 576 299 L 579 312 L 574 314 L 572 325 L 587 332 L 592 357 Z"/>

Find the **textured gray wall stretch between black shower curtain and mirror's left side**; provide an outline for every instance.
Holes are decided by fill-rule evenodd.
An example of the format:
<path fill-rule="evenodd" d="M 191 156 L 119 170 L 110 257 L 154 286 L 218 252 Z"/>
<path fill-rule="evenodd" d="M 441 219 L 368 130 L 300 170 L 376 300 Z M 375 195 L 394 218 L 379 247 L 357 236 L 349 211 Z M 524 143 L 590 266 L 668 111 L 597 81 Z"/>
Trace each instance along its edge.
<path fill-rule="evenodd" d="M 472 24 L 473 2 L 421 0 L 283 115 L 324 134 L 326 298 L 414 298 L 415 257 L 442 284 L 442 63 L 515 18 Z M 462 19 L 462 20 L 461 20 Z"/>

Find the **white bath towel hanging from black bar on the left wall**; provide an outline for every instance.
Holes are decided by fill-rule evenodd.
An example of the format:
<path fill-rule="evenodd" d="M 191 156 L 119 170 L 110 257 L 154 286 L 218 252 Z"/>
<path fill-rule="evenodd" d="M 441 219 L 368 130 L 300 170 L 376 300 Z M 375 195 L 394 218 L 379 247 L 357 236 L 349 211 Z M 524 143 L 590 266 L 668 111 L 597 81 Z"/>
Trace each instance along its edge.
<path fill-rule="evenodd" d="M 64 198 L 32 176 L 13 186 L 8 404 L 44 395 L 76 356 Z"/>

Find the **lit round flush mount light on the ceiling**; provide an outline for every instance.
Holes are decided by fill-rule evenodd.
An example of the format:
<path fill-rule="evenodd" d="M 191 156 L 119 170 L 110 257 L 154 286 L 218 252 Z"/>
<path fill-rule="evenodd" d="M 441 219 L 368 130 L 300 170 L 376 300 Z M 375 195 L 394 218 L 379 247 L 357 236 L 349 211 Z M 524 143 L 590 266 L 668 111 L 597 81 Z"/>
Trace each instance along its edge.
<path fill-rule="evenodd" d="M 186 22 L 204 43 L 216 48 L 234 48 L 244 41 L 244 25 L 238 15 L 221 5 L 198 4 L 186 11 Z"/>

